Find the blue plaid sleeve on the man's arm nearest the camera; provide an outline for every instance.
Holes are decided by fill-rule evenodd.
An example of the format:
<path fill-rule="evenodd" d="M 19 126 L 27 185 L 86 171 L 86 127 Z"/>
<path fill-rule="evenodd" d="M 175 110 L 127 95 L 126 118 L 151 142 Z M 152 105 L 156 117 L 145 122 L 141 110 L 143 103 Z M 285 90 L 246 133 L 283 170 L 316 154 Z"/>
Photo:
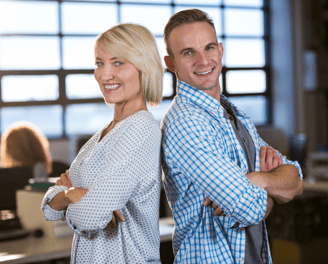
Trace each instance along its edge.
<path fill-rule="evenodd" d="M 164 149 L 174 149 L 182 173 L 242 226 L 259 223 L 267 211 L 266 191 L 250 184 L 209 124 L 197 118 L 185 118 L 177 125 L 183 129 L 174 130 L 174 137 L 165 140 L 171 146 Z"/>

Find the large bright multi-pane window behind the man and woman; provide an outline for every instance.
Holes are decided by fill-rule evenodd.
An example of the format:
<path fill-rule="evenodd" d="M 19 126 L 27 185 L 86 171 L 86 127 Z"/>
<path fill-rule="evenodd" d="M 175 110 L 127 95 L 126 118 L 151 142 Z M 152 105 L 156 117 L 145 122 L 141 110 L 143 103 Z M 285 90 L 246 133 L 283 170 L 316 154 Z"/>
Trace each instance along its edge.
<path fill-rule="evenodd" d="M 224 46 L 222 93 L 257 125 L 270 120 L 266 0 L 3 0 L 0 2 L 0 133 L 33 122 L 52 138 L 93 134 L 113 111 L 93 77 L 95 38 L 119 22 L 145 25 L 166 55 L 163 29 L 174 13 L 199 8 Z M 163 60 L 164 64 L 164 60 Z M 160 121 L 175 94 L 165 73 Z"/>

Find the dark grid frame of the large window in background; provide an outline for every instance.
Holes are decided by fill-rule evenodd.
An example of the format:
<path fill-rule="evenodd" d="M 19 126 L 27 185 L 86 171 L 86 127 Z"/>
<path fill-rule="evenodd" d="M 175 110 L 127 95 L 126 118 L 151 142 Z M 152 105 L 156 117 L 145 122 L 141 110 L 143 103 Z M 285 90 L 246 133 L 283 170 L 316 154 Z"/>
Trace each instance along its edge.
<path fill-rule="evenodd" d="M 22 0 L 11 0 L 12 2 L 22 2 Z M 117 22 L 119 23 L 121 20 L 120 10 L 121 5 L 129 4 L 129 5 L 157 5 L 157 6 L 171 6 L 172 15 L 174 14 L 174 7 L 185 7 L 185 8 L 193 8 L 197 6 L 198 8 L 220 8 L 221 13 L 223 13 L 224 9 L 229 8 L 237 8 L 237 9 L 261 9 L 264 13 L 264 36 L 261 37 L 261 39 L 264 40 L 265 45 L 265 65 L 264 67 L 227 67 L 223 66 L 222 68 L 222 94 L 226 97 L 242 97 L 242 96 L 257 96 L 257 95 L 263 95 L 267 99 L 268 107 L 266 109 L 266 116 L 267 116 L 267 122 L 260 126 L 265 126 L 272 124 L 272 92 L 271 92 L 271 53 L 270 53 L 270 10 L 269 10 L 269 0 L 263 0 L 263 7 L 234 7 L 234 6 L 226 6 L 224 4 L 219 5 L 202 5 L 202 4 L 175 4 L 174 0 L 171 1 L 171 3 L 133 3 L 133 2 L 120 2 L 120 1 L 68 1 L 68 0 L 27 0 L 29 2 L 58 2 L 58 23 L 59 23 L 59 32 L 58 34 L 2 34 L 0 33 L 1 37 L 8 37 L 8 36 L 19 36 L 19 37 L 44 37 L 44 36 L 51 36 L 51 37 L 59 37 L 60 41 L 60 64 L 61 68 L 57 70 L 0 70 L 0 111 L 2 108 L 5 107 L 21 107 L 21 106 L 43 106 L 43 105 L 60 105 L 63 109 L 62 111 L 62 135 L 56 138 L 68 138 L 68 135 L 66 133 L 66 125 L 65 125 L 65 113 L 66 108 L 69 105 L 73 104 L 86 104 L 86 103 L 103 103 L 103 98 L 84 98 L 84 99 L 68 99 L 66 96 L 66 83 L 65 78 L 67 75 L 71 74 L 93 74 L 94 69 L 63 69 L 63 38 L 64 37 L 96 37 L 96 35 L 93 34 L 63 34 L 62 33 L 62 21 L 61 21 L 61 4 L 65 2 L 69 3 L 106 3 L 106 4 L 116 4 L 118 5 L 117 8 Z M 26 0 L 24 1 L 26 2 Z M 147 2 L 147 0 L 145 0 Z M 222 35 L 218 35 L 218 38 L 221 38 L 223 40 L 223 43 L 227 36 L 224 34 L 224 15 L 221 16 L 221 23 L 222 23 Z M 155 35 L 155 37 L 162 38 L 163 35 Z M 229 38 L 239 38 L 239 39 L 251 39 L 254 37 L 245 37 L 245 36 L 229 36 Z M 227 92 L 226 89 L 226 74 L 228 71 L 239 71 L 239 70 L 263 70 L 266 74 L 266 86 L 267 89 L 264 93 L 238 93 L 238 94 L 230 94 Z M 172 100 L 173 97 L 176 95 L 176 85 L 177 85 L 177 79 L 175 74 L 170 72 L 169 70 L 166 70 L 167 72 L 171 73 L 173 76 L 173 93 L 171 96 L 164 97 L 163 100 Z M 59 87 L 59 97 L 57 100 L 46 100 L 46 101 L 15 101 L 15 102 L 4 102 L 2 101 L 2 78 L 4 76 L 19 76 L 19 75 L 56 75 L 58 76 L 58 87 Z M 1 123 L 0 123 L 0 132 L 1 132 Z"/>

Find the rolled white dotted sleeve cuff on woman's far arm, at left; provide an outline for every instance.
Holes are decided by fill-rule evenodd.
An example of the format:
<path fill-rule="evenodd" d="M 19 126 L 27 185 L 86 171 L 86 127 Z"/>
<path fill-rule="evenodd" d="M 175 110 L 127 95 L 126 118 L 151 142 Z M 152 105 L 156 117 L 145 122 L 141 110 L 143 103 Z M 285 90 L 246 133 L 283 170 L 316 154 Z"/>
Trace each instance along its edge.
<path fill-rule="evenodd" d="M 43 197 L 41 210 L 47 221 L 65 220 L 65 210 L 56 211 L 49 206 L 49 202 L 60 192 L 67 190 L 65 186 L 53 186 L 48 189 Z"/>

